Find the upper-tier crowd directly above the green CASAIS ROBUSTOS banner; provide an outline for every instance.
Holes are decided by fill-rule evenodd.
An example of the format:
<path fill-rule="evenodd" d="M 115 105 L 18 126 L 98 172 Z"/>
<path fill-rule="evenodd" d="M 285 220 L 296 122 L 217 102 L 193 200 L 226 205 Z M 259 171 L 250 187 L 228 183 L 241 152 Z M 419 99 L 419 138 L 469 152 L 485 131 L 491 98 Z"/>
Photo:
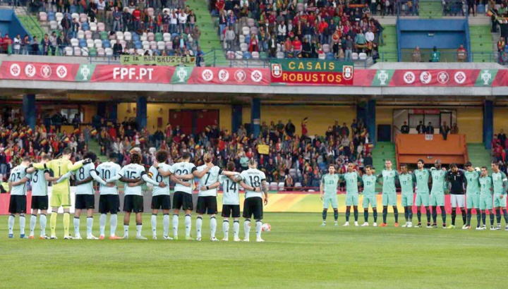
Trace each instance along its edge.
<path fill-rule="evenodd" d="M 362 3 L 212 0 L 210 11 L 219 17 L 226 49 L 246 44 L 248 51 L 265 51 L 270 57 L 279 57 L 277 52 L 301 58 L 332 53 L 335 59 L 351 60 L 353 52 L 371 54 L 383 43 L 382 26 Z"/>

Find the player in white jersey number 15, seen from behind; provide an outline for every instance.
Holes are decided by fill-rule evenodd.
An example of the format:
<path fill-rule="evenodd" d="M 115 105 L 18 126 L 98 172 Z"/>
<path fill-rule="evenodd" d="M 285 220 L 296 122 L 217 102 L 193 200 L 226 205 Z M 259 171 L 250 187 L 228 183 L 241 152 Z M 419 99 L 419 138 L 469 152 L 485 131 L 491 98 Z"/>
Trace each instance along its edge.
<path fill-rule="evenodd" d="M 120 176 L 131 180 L 141 178 L 146 183 L 151 183 L 154 186 L 167 186 L 165 183 L 155 182 L 155 180 L 152 180 L 146 174 L 145 167 L 140 165 L 142 156 L 139 152 L 132 150 L 130 157 L 131 164 L 128 164 L 121 169 L 119 173 Z M 109 183 L 109 180 L 107 180 L 107 183 Z M 131 213 L 134 212 L 136 221 L 136 239 L 147 240 L 147 238 L 141 235 L 141 230 L 143 229 L 143 192 L 141 190 L 141 184 L 140 182 L 128 183 L 128 185 L 124 187 L 124 190 L 125 198 L 123 199 L 123 211 L 125 211 L 125 216 L 123 217 L 123 239 L 128 239 L 129 222 L 131 220 Z"/>

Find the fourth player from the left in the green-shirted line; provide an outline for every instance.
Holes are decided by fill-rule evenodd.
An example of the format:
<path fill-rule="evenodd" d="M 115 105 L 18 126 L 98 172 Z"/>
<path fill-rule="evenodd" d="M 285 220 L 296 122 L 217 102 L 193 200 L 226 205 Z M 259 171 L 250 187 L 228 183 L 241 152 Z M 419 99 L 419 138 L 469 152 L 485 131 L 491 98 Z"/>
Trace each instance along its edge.
<path fill-rule="evenodd" d="M 392 161 L 385 161 L 385 170 L 377 176 L 377 180 L 382 183 L 382 204 L 383 204 L 383 222 L 380 227 L 386 227 L 386 219 L 388 215 L 388 205 L 394 209 L 395 224 L 399 226 L 399 210 L 397 209 L 397 190 L 395 190 L 395 180 L 399 176 L 399 172 L 392 169 Z"/>

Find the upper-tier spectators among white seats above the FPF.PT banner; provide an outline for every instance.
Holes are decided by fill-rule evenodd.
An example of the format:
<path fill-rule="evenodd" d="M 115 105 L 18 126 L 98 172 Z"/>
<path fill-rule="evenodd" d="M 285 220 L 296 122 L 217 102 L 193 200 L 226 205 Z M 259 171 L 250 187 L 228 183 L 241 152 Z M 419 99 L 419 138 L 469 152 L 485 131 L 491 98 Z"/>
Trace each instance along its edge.
<path fill-rule="evenodd" d="M 25 35 L 16 37 L 1 35 L 0 52 L 6 54 L 40 54 L 40 55 L 65 55 L 64 48 L 73 45 L 73 39 L 78 44 L 80 31 L 91 31 L 91 39 L 114 40 L 110 46 L 104 44 L 104 48 L 112 49 L 114 55 L 138 54 L 143 41 L 143 35 L 148 42 L 164 42 L 164 46 L 150 44 L 143 46 L 145 55 L 162 56 L 202 56 L 203 51 L 199 47 L 201 30 L 197 25 L 197 17 L 194 11 L 185 6 L 181 0 L 94 0 L 94 1 L 32 1 L 40 3 L 37 11 L 43 11 L 44 18 L 40 20 L 48 25 L 50 32 L 38 39 L 37 36 L 30 38 Z M 47 13 L 46 13 L 47 12 Z M 61 20 L 55 13 L 62 13 Z M 48 18 L 49 16 L 49 18 Z M 52 20 L 55 24 L 52 26 Z M 91 29 L 92 23 L 94 29 Z M 97 27 L 95 24 L 99 25 Z M 104 26 L 101 26 L 104 25 Z M 210 25 L 212 25 L 210 23 Z M 100 32 L 107 32 L 107 36 Z M 130 32 L 132 39 L 123 42 L 123 36 L 117 32 Z M 168 36 L 163 34 L 167 33 Z M 150 37 L 150 34 L 154 35 Z M 85 35 L 81 35 L 84 37 Z M 127 38 L 127 37 L 125 37 Z M 86 47 L 86 44 L 83 43 Z M 83 48 L 80 44 L 80 47 Z M 100 47 L 102 48 L 102 46 Z"/>

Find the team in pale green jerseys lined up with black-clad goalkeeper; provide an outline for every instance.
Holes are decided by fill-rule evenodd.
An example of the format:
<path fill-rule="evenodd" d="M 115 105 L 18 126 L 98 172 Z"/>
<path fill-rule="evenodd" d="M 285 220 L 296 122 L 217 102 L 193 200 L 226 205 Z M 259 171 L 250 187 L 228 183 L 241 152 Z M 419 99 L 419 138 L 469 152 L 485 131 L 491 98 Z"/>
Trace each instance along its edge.
<path fill-rule="evenodd" d="M 492 173 L 489 176 L 487 168 L 473 168 L 471 162 L 464 164 L 465 170 L 459 169 L 456 164 L 451 164 L 449 170 L 442 168 L 439 160 L 435 161 L 433 168 L 425 168 L 423 159 L 419 159 L 418 168 L 410 172 L 406 164 L 401 165 L 401 172 L 392 168 L 392 161 L 385 161 L 385 169 L 379 176 L 375 176 L 374 168 L 365 167 L 365 173 L 360 176 L 354 169 L 353 163 L 348 164 L 348 171 L 344 174 L 335 173 L 336 168 L 331 164 L 328 173 L 322 176 L 320 195 L 323 200 L 322 225 L 326 226 L 327 210 L 329 205 L 334 209 L 334 225 L 338 226 L 337 210 L 337 184 L 346 183 L 346 223 L 349 226 L 351 206 L 355 226 L 358 225 L 358 194 L 363 187 L 363 209 L 365 223 L 361 226 L 369 226 L 369 205 L 373 209 L 374 223 L 377 226 L 377 199 L 375 192 L 376 183 L 382 184 L 382 223 L 380 227 L 387 226 L 387 208 L 393 207 L 395 227 L 399 226 L 399 211 L 397 209 L 397 187 L 401 187 L 401 205 L 404 207 L 406 223 L 402 227 L 413 227 L 413 199 L 415 199 L 418 224 L 422 227 L 421 207 L 425 207 L 427 214 L 427 228 L 437 228 L 437 207 L 440 207 L 443 228 L 455 228 L 456 210 L 459 209 L 464 221 L 463 229 L 471 228 L 472 209 L 476 209 L 478 221 L 476 229 L 486 229 L 486 214 L 490 214 L 490 230 L 501 229 L 501 214 L 506 222 L 505 230 L 508 230 L 507 190 L 508 181 L 505 173 L 500 171 L 498 164 L 492 162 Z M 450 202 L 452 207 L 452 223 L 447 226 L 447 214 L 444 209 L 444 190 L 450 184 Z M 430 187 L 430 190 L 429 190 Z M 464 190 L 465 188 L 465 190 Z M 415 198 L 416 194 L 416 198 Z M 467 207 L 466 207 L 467 204 Z M 432 213 L 430 208 L 432 207 Z M 467 209 L 466 209 L 467 208 Z M 497 226 L 494 226 L 495 209 Z M 433 222 L 430 222 L 432 214 Z"/>

